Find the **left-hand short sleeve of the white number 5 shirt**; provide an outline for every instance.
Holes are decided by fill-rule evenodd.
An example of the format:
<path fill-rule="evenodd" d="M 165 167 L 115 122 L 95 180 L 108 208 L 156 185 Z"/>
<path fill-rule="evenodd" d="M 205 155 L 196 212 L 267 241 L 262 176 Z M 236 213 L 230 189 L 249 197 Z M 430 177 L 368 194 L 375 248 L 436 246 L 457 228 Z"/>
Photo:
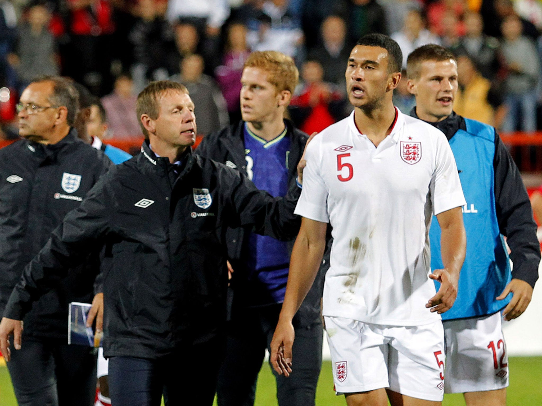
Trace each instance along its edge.
<path fill-rule="evenodd" d="M 307 219 L 329 222 L 327 215 L 328 189 L 322 179 L 318 146 L 313 141 L 305 152 L 307 166 L 303 170 L 303 189 L 295 207 L 295 214 Z"/>

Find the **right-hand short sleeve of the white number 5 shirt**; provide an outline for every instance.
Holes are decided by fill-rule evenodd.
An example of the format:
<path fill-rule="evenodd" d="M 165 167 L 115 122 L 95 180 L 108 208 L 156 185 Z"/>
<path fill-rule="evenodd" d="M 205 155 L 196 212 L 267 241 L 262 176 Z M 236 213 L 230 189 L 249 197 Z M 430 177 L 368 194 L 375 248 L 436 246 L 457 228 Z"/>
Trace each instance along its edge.
<path fill-rule="evenodd" d="M 441 132 L 436 139 L 435 169 L 429 186 L 434 215 L 467 204 L 448 140 Z"/>

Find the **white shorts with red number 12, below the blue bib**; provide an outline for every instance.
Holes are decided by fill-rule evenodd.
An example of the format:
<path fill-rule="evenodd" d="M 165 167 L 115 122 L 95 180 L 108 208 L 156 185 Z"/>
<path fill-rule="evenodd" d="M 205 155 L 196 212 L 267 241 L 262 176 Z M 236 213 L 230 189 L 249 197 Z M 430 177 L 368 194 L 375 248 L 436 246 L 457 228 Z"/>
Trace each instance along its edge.
<path fill-rule="evenodd" d="M 444 392 L 479 392 L 508 386 L 508 355 L 502 335 L 501 312 L 448 320 L 443 325 L 446 347 Z"/>

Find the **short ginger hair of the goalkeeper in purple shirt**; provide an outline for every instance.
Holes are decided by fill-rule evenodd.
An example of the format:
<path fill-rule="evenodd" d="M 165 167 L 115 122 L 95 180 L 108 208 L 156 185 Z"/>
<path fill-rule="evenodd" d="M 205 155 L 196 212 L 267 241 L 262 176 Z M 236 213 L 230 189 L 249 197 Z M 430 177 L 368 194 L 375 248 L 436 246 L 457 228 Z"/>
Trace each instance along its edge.
<path fill-rule="evenodd" d="M 278 51 L 256 51 L 249 55 L 244 68 L 260 68 L 268 71 L 267 81 L 276 87 L 277 93 L 288 90 L 294 93 L 299 71 L 292 57 Z"/>

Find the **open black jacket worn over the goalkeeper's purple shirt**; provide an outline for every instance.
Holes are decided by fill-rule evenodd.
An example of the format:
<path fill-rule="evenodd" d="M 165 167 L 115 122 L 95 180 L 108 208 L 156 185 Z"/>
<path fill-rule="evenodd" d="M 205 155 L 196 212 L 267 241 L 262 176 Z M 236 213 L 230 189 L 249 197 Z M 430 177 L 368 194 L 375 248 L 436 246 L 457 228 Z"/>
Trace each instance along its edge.
<path fill-rule="evenodd" d="M 288 182 L 290 185 L 295 184 L 297 178 L 297 165 L 301 160 L 301 155 L 305 148 L 308 135 L 299 129 L 296 129 L 292 122 L 285 120 L 287 128 L 286 137 L 290 139 L 290 149 L 288 154 Z M 211 133 L 205 136 L 199 144 L 195 153 L 205 156 L 217 162 L 225 163 L 230 167 L 235 167 L 237 171 L 247 175 L 245 153 L 244 153 L 244 121 L 240 121 L 234 125 L 223 128 L 222 130 Z M 331 229 L 331 227 L 328 227 Z M 266 292 L 259 289 L 257 292 L 251 291 L 255 289 L 254 281 L 248 280 L 248 272 L 246 270 L 247 246 L 250 235 L 250 229 L 246 227 L 229 228 L 226 233 L 226 243 L 228 246 L 228 254 L 230 263 L 234 269 L 231 286 L 233 288 L 233 303 L 232 317 L 235 317 L 236 311 L 241 310 L 247 305 L 254 303 L 254 296 L 261 296 L 261 300 L 266 300 Z M 292 252 L 293 241 L 289 244 L 289 250 Z M 324 278 L 327 269 L 329 268 L 329 257 L 331 248 L 331 230 L 328 230 L 327 249 L 320 265 L 318 275 L 312 285 L 311 290 L 307 294 L 304 302 L 296 313 L 296 325 L 308 327 L 321 322 L 321 306 L 320 299 L 324 290 Z M 272 300 L 270 297 L 267 300 Z M 269 302 L 268 302 L 269 303 Z M 241 308 L 241 309 L 240 309 Z"/>

